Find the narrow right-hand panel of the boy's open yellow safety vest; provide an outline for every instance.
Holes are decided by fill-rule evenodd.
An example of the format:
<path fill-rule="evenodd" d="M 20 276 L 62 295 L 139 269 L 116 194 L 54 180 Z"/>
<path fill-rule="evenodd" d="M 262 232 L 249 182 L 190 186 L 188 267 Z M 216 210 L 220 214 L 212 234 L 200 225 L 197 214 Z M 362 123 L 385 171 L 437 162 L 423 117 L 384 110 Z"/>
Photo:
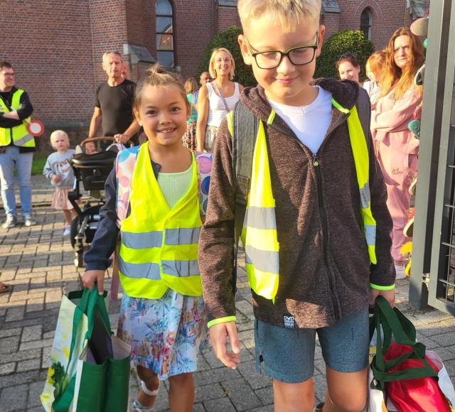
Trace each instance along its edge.
<path fill-rule="evenodd" d="M 371 195 L 370 195 L 370 156 L 368 146 L 363 134 L 362 124 L 358 118 L 357 108 L 354 106 L 348 110 L 342 107 L 336 100 L 332 99 L 332 104 L 343 113 L 349 113 L 348 129 L 350 146 L 353 149 L 355 163 L 355 172 L 357 174 L 357 183 L 360 193 L 360 214 L 363 221 L 363 234 L 368 246 L 368 255 L 370 263 L 376 264 L 376 221 L 371 212 Z"/>

